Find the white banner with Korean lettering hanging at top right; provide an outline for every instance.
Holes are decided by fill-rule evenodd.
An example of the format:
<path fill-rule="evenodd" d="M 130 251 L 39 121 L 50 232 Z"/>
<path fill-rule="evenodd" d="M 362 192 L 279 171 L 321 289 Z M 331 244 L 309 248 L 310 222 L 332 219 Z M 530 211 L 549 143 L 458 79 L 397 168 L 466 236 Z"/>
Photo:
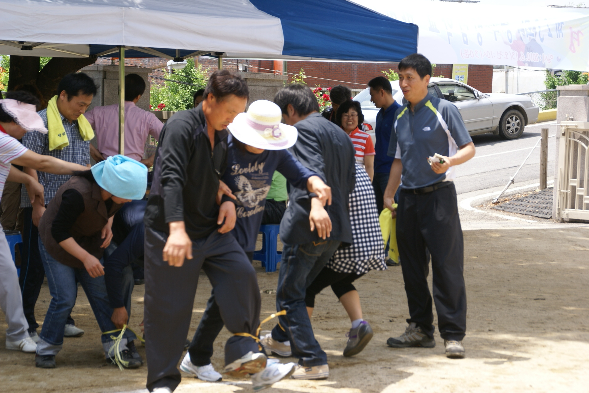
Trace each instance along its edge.
<path fill-rule="evenodd" d="M 353 1 L 418 25 L 418 52 L 432 62 L 589 71 L 589 9 Z"/>

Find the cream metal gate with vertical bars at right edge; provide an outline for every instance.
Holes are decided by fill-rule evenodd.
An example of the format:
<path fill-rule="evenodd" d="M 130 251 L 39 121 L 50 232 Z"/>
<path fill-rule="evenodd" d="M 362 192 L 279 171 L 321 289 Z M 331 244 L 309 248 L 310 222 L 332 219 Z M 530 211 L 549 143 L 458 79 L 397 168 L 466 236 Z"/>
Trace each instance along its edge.
<path fill-rule="evenodd" d="M 557 217 L 589 220 L 589 122 L 562 121 L 558 147 Z"/>

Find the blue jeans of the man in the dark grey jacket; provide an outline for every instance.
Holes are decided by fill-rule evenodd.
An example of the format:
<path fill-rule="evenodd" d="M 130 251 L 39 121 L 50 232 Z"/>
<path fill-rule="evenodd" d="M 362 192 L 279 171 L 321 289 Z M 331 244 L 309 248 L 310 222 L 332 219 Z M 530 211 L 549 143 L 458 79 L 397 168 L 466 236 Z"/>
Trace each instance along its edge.
<path fill-rule="evenodd" d="M 286 310 L 286 315 L 279 317 L 272 338 L 280 342 L 290 341 L 293 356 L 306 367 L 327 364 L 327 355 L 313 335 L 305 305 L 306 290 L 339 244 L 336 240 L 317 240 L 300 245 L 285 244 L 282 249 L 276 309 Z"/>

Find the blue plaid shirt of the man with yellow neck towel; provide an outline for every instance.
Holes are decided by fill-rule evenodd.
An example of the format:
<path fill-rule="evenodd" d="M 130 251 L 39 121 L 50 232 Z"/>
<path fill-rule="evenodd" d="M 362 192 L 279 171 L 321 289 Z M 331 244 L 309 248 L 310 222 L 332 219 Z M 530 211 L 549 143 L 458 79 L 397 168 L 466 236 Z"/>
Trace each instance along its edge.
<path fill-rule="evenodd" d="M 38 112 L 39 116 L 43 119 L 45 127 L 47 127 L 47 109 Z M 52 156 L 59 158 L 60 160 L 68 161 L 70 163 L 76 163 L 80 165 L 90 164 L 90 141 L 85 141 L 80 136 L 80 130 L 78 130 L 78 121 L 68 121 L 66 118 L 61 116 L 62 123 L 64 125 L 65 133 L 68 136 L 70 144 L 61 150 L 55 149 L 49 151 L 49 137 L 48 134 L 41 134 L 38 131 L 30 131 L 22 137 L 22 144 L 29 150 L 34 151 L 37 154 L 43 154 L 44 156 Z M 65 174 L 52 174 L 47 172 L 37 171 L 39 176 L 39 183 L 45 187 L 45 205 L 49 202 L 57 193 L 59 187 L 66 181 L 70 180 L 69 175 Z M 27 194 L 25 187 L 22 187 L 21 191 L 21 207 L 31 207 L 31 201 Z"/>

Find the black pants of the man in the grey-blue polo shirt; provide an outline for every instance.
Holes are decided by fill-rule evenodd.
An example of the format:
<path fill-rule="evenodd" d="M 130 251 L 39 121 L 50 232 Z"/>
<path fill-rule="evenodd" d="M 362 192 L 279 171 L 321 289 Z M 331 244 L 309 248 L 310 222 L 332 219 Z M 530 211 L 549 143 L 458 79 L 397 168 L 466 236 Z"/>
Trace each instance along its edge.
<path fill-rule="evenodd" d="M 407 322 L 415 322 L 428 336 L 434 336 L 427 247 L 432 256 L 440 335 L 446 340 L 462 340 L 466 332 L 464 241 L 454 184 L 427 194 L 401 191 L 396 232 L 409 302 Z"/>

